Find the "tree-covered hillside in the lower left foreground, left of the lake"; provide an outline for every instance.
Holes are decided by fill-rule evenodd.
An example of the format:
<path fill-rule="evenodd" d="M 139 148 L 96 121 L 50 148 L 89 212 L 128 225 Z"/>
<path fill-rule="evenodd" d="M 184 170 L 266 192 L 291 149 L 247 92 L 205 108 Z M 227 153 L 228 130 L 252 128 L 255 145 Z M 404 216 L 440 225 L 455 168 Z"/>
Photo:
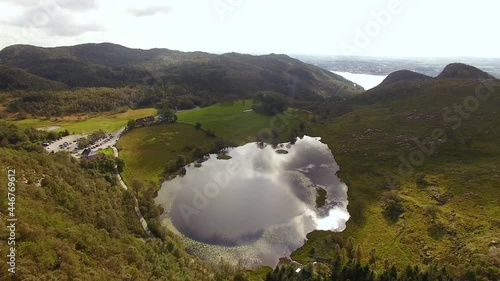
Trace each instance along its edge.
<path fill-rule="evenodd" d="M 215 275 L 228 280 L 229 274 L 189 256 L 174 235 L 144 234 L 133 195 L 103 174 L 112 158 L 80 162 L 67 153 L 48 155 L 39 145 L 46 137 L 0 121 L 0 184 L 6 187 L 7 169 L 15 169 L 18 218 L 16 273 L 8 273 L 2 262 L 0 280 L 191 281 L 214 280 Z M 0 196 L 7 198 L 6 188 Z M 7 225 L 4 199 L 0 223 Z M 0 240 L 7 241 L 8 235 L 1 231 Z M 0 251 L 7 253 L 7 247 L 1 243 Z"/>

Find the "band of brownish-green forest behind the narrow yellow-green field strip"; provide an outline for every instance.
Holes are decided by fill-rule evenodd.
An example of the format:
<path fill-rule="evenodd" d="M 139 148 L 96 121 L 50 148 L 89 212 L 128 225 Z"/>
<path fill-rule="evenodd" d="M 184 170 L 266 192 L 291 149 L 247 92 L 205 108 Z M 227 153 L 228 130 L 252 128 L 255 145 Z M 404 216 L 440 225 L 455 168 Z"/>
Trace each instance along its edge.
<path fill-rule="evenodd" d="M 180 86 L 136 88 L 81 88 L 61 91 L 25 91 L 11 94 L 7 111 L 33 117 L 61 117 L 77 114 L 124 112 L 127 109 L 169 107 L 191 109 L 208 106 L 223 97 L 199 92 L 191 94 Z"/>

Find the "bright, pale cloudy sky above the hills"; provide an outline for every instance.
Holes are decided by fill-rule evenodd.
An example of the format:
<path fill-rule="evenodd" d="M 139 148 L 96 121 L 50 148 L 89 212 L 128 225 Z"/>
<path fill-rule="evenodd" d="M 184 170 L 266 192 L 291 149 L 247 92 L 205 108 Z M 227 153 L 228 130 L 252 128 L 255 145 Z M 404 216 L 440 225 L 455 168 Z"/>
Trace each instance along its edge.
<path fill-rule="evenodd" d="M 500 58 L 496 0 L 0 0 L 0 49 Z"/>

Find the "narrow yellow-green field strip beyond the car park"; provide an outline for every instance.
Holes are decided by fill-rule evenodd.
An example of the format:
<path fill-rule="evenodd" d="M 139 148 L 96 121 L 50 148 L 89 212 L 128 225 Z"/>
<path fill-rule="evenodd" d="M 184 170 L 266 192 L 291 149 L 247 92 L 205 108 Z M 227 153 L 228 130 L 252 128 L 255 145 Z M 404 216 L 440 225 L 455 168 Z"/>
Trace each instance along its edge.
<path fill-rule="evenodd" d="M 95 117 L 24 119 L 13 122 L 20 127 L 47 128 L 51 126 L 58 126 L 60 128 L 55 131 L 64 131 L 67 129 L 70 133 L 74 132 L 77 134 L 92 133 L 99 129 L 105 131 L 106 133 L 113 133 L 125 126 L 128 120 L 146 117 L 149 115 L 156 115 L 156 109 L 134 109 L 128 110 L 124 113 L 108 113 Z"/>

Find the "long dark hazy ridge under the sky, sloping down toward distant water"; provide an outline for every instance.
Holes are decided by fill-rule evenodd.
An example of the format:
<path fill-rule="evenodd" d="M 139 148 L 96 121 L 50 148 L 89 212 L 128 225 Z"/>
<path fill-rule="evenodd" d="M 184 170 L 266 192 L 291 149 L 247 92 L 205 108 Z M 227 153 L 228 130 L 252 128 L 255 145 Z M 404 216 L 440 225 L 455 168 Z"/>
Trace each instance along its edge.
<path fill-rule="evenodd" d="M 299 99 L 354 95 L 362 88 L 338 75 L 285 55 L 184 53 L 84 44 L 41 48 L 14 45 L 0 61 L 70 87 L 177 84 L 193 92 L 246 95 L 277 91 Z"/>

